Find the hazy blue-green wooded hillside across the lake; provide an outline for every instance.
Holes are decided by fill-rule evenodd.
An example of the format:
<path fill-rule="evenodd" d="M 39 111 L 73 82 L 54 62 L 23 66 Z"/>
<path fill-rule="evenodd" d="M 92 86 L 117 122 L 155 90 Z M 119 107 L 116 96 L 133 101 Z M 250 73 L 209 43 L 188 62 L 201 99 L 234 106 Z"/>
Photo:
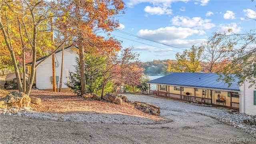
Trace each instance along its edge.
<path fill-rule="evenodd" d="M 153 60 L 151 62 L 144 62 L 143 68 L 144 74 L 148 75 L 156 75 L 156 74 L 170 74 L 170 72 L 167 72 L 168 64 L 172 62 L 173 60 Z"/>

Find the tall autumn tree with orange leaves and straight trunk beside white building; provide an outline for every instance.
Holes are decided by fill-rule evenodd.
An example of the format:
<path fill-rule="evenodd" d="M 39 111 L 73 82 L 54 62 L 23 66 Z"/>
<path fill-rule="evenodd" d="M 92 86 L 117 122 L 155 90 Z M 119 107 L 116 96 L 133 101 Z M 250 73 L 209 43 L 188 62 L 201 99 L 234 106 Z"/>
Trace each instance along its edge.
<path fill-rule="evenodd" d="M 86 94 L 84 70 L 84 51 L 88 47 L 98 47 L 101 37 L 96 35 L 97 30 L 109 32 L 118 28 L 116 16 L 123 14 L 122 0 L 58 0 L 51 2 L 56 28 L 68 37 L 68 40 L 79 48 L 81 94 Z M 99 41 L 100 40 L 100 41 Z M 117 51 L 120 47 L 108 46 L 107 51 Z"/>

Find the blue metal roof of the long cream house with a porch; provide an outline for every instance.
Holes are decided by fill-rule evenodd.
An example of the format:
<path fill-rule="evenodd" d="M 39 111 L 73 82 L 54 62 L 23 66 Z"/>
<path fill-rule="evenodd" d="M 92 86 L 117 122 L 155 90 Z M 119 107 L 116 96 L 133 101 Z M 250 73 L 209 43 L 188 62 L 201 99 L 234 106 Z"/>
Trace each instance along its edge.
<path fill-rule="evenodd" d="M 222 80 L 217 81 L 218 78 L 219 75 L 216 73 L 174 72 L 146 83 L 240 91 L 238 78 L 235 78 L 235 82 L 229 87 Z"/>

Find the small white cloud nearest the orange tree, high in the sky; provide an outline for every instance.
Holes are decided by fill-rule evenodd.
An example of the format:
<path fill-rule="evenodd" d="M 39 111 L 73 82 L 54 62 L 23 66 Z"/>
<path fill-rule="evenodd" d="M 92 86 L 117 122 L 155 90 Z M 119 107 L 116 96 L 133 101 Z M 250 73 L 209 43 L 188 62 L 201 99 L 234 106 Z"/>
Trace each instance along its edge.
<path fill-rule="evenodd" d="M 168 9 L 168 7 L 151 7 L 151 6 L 146 6 L 144 8 L 145 12 L 148 12 L 149 14 L 157 14 L 157 15 L 162 15 L 162 14 L 172 14 L 172 10 Z"/>

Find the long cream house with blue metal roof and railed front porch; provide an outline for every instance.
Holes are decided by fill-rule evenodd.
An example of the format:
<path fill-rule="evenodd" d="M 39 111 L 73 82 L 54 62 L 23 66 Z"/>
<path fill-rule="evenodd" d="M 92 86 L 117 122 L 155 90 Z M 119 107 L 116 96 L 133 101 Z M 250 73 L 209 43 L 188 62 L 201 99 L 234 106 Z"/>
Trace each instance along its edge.
<path fill-rule="evenodd" d="M 174 72 L 146 83 L 156 85 L 156 90 L 150 90 L 149 94 L 239 110 L 238 79 L 228 85 L 218 78 L 215 73 Z"/>

